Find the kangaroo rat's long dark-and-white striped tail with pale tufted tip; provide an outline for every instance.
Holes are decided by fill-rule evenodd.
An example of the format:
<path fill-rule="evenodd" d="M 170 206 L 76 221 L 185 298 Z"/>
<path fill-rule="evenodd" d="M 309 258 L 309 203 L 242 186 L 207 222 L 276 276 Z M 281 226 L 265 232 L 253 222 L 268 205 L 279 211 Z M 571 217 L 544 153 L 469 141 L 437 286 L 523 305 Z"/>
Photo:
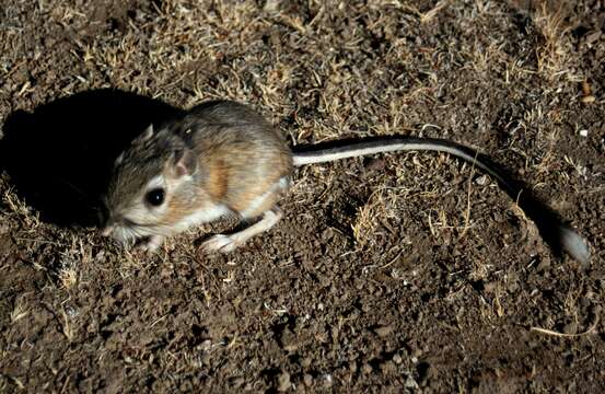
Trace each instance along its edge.
<path fill-rule="evenodd" d="M 539 202 L 516 181 L 505 175 L 488 157 L 474 149 L 443 139 L 415 137 L 379 137 L 363 140 L 323 142 L 293 149 L 294 166 L 325 163 L 347 158 L 394 151 L 435 151 L 459 158 L 485 171 L 505 189 L 523 211 L 536 223 L 542 236 L 554 252 L 567 252 L 580 263 L 589 263 L 586 242 L 574 230 L 563 224 L 548 207 Z"/>

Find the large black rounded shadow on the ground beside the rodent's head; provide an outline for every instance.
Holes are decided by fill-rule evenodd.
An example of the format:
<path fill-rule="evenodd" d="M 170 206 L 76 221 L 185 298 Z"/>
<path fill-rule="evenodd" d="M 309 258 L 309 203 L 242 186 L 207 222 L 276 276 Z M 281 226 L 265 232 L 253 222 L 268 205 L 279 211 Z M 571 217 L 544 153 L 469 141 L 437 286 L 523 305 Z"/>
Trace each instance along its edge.
<path fill-rule="evenodd" d="M 114 160 L 150 123 L 178 114 L 158 100 L 94 90 L 16 111 L 4 123 L 0 171 L 40 219 L 95 225 Z"/>

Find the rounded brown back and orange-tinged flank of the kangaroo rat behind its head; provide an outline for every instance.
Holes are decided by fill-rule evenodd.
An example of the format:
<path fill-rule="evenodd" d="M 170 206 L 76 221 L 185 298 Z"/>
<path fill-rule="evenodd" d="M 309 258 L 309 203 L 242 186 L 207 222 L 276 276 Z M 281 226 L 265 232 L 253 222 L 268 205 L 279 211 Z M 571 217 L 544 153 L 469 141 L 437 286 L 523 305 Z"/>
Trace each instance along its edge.
<path fill-rule="evenodd" d="M 193 108 L 179 127 L 186 128 L 181 132 L 193 140 L 208 193 L 232 210 L 246 210 L 292 172 L 284 138 L 243 104 L 202 104 Z"/>

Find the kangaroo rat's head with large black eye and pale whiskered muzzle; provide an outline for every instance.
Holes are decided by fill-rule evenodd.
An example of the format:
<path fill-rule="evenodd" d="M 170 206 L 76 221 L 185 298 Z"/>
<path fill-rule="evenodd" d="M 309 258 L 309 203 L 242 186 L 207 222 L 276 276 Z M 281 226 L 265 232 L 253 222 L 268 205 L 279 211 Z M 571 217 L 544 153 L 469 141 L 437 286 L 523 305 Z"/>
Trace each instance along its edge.
<path fill-rule="evenodd" d="M 196 198 L 197 160 L 184 139 L 149 126 L 114 165 L 104 204 L 104 235 L 131 244 L 139 237 L 170 235 Z"/>

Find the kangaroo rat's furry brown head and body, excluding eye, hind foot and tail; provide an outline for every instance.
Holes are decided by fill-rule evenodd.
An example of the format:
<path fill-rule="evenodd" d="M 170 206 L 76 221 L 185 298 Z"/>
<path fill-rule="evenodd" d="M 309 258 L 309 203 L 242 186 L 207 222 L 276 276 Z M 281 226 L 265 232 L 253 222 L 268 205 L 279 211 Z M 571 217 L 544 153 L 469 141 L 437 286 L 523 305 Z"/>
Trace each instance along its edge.
<path fill-rule="evenodd" d="M 291 172 L 290 149 L 259 114 L 233 102 L 202 104 L 148 128 L 116 162 L 108 221 L 127 241 L 171 235 L 226 209 L 261 216 L 274 208 L 281 192 L 276 185 Z M 146 200 L 155 187 L 165 189 L 160 207 Z"/>

